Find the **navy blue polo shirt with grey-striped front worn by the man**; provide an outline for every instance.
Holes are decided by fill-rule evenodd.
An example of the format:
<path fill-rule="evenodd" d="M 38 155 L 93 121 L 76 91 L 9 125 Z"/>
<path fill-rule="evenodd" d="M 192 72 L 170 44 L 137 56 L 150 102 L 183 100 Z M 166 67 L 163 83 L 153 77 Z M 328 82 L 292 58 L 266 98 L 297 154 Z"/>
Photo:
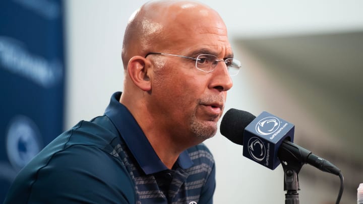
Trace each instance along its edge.
<path fill-rule="evenodd" d="M 103 116 L 80 121 L 25 166 L 5 203 L 212 203 L 215 165 L 203 145 L 168 169 L 112 95 Z"/>

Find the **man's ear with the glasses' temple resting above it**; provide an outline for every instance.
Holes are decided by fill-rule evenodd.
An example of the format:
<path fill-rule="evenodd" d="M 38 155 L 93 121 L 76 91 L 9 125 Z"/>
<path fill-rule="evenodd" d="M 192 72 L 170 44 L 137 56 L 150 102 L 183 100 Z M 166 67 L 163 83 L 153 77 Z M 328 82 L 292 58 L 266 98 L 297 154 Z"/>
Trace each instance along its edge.
<path fill-rule="evenodd" d="M 134 84 L 143 91 L 151 90 L 150 68 L 152 64 L 142 56 L 133 56 L 129 60 L 128 73 Z"/>

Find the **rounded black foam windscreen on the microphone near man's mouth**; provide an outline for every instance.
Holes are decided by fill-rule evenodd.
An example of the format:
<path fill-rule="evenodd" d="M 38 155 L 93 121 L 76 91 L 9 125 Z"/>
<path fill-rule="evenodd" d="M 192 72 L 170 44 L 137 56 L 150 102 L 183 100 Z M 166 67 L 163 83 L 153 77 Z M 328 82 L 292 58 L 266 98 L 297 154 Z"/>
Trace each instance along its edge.
<path fill-rule="evenodd" d="M 245 128 L 255 118 L 252 113 L 231 108 L 222 118 L 220 132 L 233 143 L 243 145 Z"/>

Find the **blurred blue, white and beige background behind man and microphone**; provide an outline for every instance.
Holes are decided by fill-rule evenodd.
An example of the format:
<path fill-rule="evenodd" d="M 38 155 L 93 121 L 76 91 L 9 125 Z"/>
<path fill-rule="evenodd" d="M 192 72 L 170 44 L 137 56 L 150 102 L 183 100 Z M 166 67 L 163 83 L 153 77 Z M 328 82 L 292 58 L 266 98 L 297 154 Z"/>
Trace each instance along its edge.
<path fill-rule="evenodd" d="M 46 144 L 102 115 L 123 90 L 123 34 L 145 2 L 0 2 L 0 202 Z M 363 1 L 201 2 L 224 19 L 243 62 L 225 110 L 268 111 L 295 124 L 294 142 L 337 165 L 341 203 L 355 203 L 363 183 Z M 216 160 L 215 203 L 284 203 L 281 166 L 247 160 L 219 133 L 205 144 Z M 300 203 L 335 203 L 339 177 L 309 165 L 298 176 Z"/>

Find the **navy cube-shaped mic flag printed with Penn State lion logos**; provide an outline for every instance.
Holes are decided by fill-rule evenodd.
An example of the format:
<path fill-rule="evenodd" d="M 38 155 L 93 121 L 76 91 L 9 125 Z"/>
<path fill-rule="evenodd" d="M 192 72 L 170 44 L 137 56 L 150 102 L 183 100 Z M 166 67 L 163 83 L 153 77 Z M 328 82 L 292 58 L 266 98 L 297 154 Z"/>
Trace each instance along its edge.
<path fill-rule="evenodd" d="M 244 132 L 243 155 L 263 166 L 275 169 L 281 143 L 289 138 L 293 142 L 294 125 L 268 112 L 262 112 Z"/>

